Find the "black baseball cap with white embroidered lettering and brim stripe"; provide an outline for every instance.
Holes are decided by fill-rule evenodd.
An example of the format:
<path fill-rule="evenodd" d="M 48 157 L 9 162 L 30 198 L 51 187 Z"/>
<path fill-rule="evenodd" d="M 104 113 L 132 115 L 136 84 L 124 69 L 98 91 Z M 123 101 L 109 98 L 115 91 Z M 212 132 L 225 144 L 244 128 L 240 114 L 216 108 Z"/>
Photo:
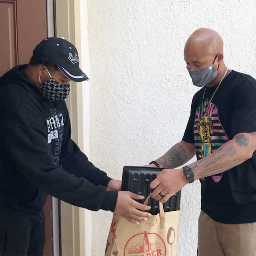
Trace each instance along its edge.
<path fill-rule="evenodd" d="M 82 82 L 89 80 L 79 68 L 79 57 L 76 47 L 65 38 L 45 38 L 38 43 L 33 56 L 56 65 L 71 81 Z"/>

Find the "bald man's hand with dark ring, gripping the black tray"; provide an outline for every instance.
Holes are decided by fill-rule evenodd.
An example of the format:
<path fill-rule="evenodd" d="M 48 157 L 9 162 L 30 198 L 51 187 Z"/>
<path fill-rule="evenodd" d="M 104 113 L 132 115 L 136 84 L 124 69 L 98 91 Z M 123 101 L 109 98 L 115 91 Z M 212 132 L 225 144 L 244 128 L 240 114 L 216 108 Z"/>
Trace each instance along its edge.
<path fill-rule="evenodd" d="M 183 169 L 165 169 L 151 182 L 150 188 L 154 190 L 151 197 L 164 204 L 186 184 L 188 180 Z"/>

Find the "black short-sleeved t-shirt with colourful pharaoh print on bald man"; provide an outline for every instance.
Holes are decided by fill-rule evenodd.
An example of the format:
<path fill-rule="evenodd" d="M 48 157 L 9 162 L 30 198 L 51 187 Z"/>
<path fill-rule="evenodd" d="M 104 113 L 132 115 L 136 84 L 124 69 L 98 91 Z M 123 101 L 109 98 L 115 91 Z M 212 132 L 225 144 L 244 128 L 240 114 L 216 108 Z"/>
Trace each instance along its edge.
<path fill-rule="evenodd" d="M 197 159 L 231 140 L 256 131 L 256 80 L 232 71 L 216 86 L 199 90 L 192 100 L 183 140 L 194 143 Z M 203 100 L 204 95 L 204 100 Z M 246 150 L 246 149 L 245 149 Z M 256 153 L 231 170 L 200 180 L 201 209 L 220 223 L 256 222 Z"/>

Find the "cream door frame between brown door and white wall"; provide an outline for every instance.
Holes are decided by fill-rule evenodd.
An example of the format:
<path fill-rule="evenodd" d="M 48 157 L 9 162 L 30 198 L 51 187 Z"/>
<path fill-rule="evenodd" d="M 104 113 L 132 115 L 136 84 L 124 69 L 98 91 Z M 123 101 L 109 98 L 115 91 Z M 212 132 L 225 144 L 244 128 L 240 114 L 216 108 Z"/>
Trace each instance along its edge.
<path fill-rule="evenodd" d="M 81 58 L 81 0 L 54 1 L 55 36 L 73 43 Z M 86 63 L 87 64 L 87 63 Z M 80 61 L 80 66 L 83 62 Z M 88 96 L 89 97 L 89 96 Z M 71 82 L 71 94 L 66 99 L 70 114 L 72 139 L 84 151 L 83 90 L 82 83 Z M 87 154 L 88 156 L 88 154 Z M 86 229 L 90 234 L 90 212 L 59 200 L 60 251 L 59 255 L 90 256 L 90 238 L 85 241 Z M 89 227 L 89 228 L 88 228 Z M 86 233 L 87 233 L 86 232 Z M 87 235 L 86 235 L 87 237 Z M 87 240 L 87 239 L 86 239 Z"/>

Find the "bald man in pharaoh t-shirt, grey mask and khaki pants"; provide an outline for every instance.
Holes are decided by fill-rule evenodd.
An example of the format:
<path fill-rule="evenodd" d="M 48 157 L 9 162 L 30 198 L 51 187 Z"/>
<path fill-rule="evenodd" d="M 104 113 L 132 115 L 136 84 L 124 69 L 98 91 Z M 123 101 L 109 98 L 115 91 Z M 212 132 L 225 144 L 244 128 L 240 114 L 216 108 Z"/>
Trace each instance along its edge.
<path fill-rule="evenodd" d="M 165 203 L 200 179 L 198 255 L 256 255 L 256 80 L 226 67 L 223 40 L 211 29 L 188 38 L 184 57 L 202 89 L 182 140 L 149 165 L 166 168 L 151 183 L 152 198 Z"/>

